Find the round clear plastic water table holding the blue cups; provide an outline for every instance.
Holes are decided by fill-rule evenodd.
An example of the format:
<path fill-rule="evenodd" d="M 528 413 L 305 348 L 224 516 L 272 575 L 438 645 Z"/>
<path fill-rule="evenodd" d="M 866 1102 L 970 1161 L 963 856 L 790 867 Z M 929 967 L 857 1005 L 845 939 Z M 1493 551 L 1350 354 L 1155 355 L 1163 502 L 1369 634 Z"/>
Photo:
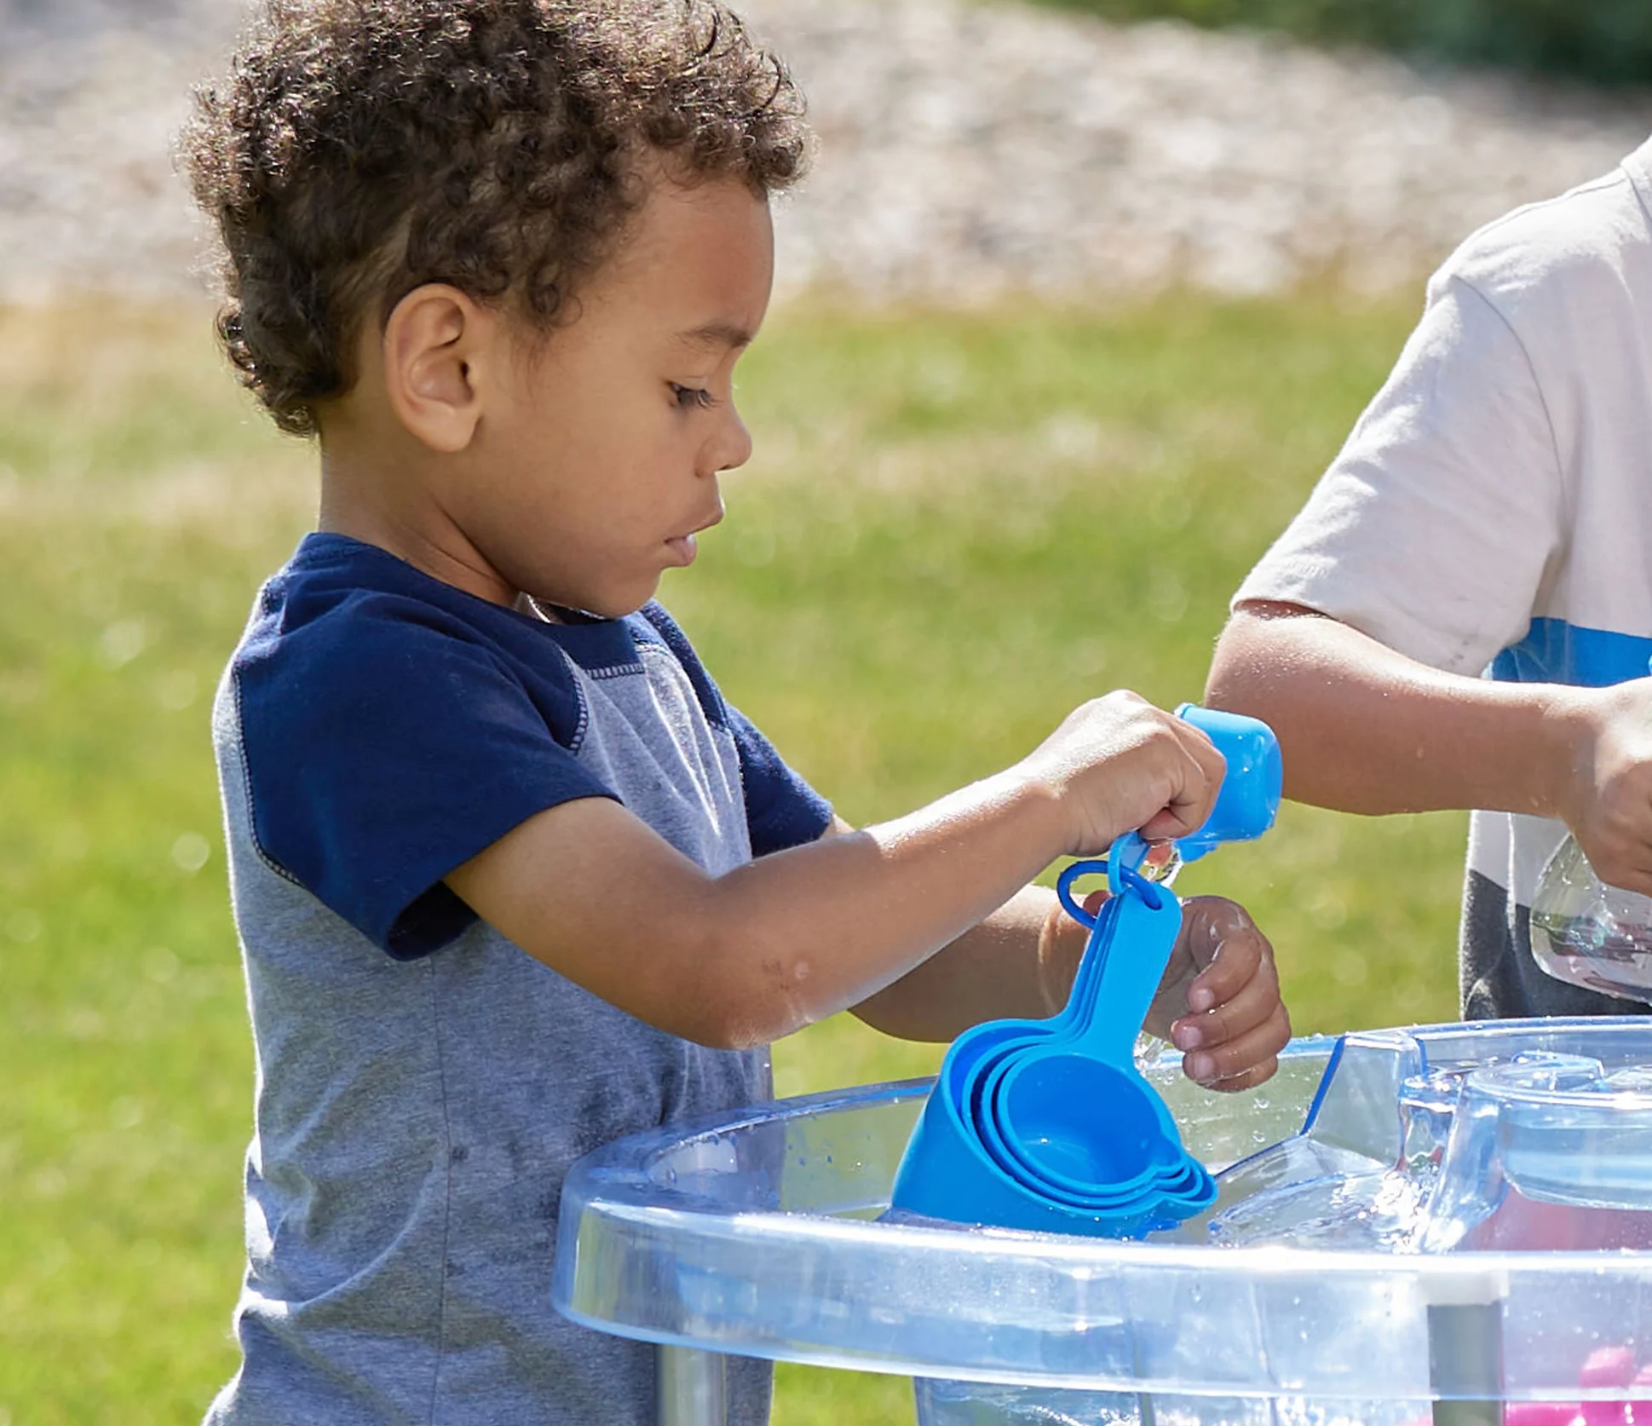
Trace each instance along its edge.
<path fill-rule="evenodd" d="M 914 1081 L 582 1160 L 555 1302 L 659 1343 L 662 1426 L 722 1426 L 725 1353 L 914 1376 L 922 1426 L 1652 1421 L 1652 1018 L 1150 1077 L 1219 1186 L 1175 1231 L 885 1219 Z"/>

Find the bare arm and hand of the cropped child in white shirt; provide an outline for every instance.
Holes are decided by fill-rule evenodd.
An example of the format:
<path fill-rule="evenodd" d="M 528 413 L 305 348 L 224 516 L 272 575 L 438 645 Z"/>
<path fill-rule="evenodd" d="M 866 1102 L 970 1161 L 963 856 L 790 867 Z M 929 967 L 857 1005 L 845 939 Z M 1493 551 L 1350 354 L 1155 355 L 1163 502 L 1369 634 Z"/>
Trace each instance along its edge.
<path fill-rule="evenodd" d="M 1313 610 L 1257 601 L 1222 631 L 1206 702 L 1272 725 L 1297 801 L 1559 818 L 1606 881 L 1652 894 L 1649 679 L 1464 677 Z"/>

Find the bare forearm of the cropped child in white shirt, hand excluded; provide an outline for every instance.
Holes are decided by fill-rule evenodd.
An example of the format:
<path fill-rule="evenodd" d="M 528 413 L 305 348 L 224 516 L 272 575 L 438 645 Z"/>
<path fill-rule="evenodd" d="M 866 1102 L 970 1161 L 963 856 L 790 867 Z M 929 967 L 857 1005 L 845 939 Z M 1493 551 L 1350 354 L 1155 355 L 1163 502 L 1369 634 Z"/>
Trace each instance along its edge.
<path fill-rule="evenodd" d="M 1356 813 L 1559 816 L 1583 747 L 1578 691 L 1446 674 L 1294 605 L 1234 613 L 1206 702 L 1274 727 L 1287 796 Z"/>

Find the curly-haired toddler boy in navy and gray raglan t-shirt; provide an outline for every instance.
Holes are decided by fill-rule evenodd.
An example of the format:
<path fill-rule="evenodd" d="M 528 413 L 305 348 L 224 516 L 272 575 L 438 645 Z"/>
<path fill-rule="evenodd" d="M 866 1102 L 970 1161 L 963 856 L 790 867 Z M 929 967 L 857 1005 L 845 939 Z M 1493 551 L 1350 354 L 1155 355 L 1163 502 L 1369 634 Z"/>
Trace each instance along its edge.
<path fill-rule="evenodd" d="M 1209 742 L 1112 694 L 854 831 L 653 603 L 750 453 L 806 149 L 714 3 L 271 0 L 200 97 L 221 334 L 322 471 L 215 711 L 258 1058 L 218 1426 L 651 1421 L 651 1348 L 548 1305 L 568 1165 L 767 1097 L 838 1010 L 1054 1011 L 1082 934 L 1026 882 L 1211 806 Z M 1153 1024 L 1252 1084 L 1270 950 L 1189 906 Z M 732 1378 L 762 1421 L 767 1370 Z"/>

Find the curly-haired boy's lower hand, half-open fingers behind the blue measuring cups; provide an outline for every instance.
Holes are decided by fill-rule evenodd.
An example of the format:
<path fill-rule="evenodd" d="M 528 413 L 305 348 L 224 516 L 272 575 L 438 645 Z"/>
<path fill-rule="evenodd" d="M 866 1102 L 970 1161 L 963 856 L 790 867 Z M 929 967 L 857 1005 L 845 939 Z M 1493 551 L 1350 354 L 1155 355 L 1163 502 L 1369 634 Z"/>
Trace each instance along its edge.
<path fill-rule="evenodd" d="M 1188 1079 L 1251 1089 L 1279 1069 L 1290 1015 L 1279 996 L 1274 947 L 1237 902 L 1194 896 L 1143 1024 L 1183 1051 Z"/>

